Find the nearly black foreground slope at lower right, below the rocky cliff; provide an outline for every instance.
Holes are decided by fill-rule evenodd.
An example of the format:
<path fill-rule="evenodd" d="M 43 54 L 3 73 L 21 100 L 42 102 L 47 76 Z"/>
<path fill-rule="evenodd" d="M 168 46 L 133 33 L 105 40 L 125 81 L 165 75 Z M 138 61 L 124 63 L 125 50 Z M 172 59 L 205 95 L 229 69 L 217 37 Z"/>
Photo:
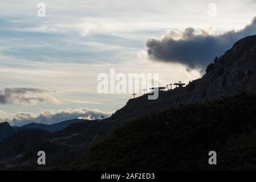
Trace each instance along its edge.
<path fill-rule="evenodd" d="M 256 94 L 174 106 L 118 127 L 66 170 L 256 169 Z M 217 152 L 217 165 L 208 152 Z"/>

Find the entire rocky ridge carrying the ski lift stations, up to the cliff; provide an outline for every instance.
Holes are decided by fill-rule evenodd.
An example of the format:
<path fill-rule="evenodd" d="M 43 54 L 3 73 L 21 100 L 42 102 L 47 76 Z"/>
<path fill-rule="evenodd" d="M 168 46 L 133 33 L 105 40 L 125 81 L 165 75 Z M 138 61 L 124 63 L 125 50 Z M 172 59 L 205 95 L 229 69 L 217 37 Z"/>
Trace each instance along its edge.
<path fill-rule="evenodd" d="M 184 88 L 160 92 L 157 100 L 147 95 L 131 99 L 109 119 L 133 117 L 179 104 L 256 92 L 256 35 L 239 40 L 221 57 L 208 65 L 206 74 Z"/>

